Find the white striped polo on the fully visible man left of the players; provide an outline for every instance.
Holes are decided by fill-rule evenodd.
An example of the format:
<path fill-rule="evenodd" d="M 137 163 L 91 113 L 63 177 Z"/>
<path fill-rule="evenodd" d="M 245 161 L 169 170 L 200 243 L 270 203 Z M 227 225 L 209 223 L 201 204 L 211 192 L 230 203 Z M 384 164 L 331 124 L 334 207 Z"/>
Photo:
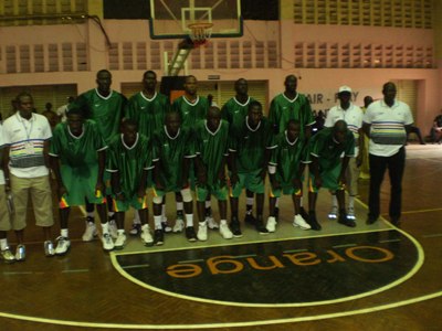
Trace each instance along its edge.
<path fill-rule="evenodd" d="M 43 146 L 51 137 L 51 127 L 43 115 L 32 114 L 28 120 L 17 111 L 15 115 L 4 120 L 3 139 L 4 143 L 10 147 L 10 172 L 19 178 L 48 175 Z"/>

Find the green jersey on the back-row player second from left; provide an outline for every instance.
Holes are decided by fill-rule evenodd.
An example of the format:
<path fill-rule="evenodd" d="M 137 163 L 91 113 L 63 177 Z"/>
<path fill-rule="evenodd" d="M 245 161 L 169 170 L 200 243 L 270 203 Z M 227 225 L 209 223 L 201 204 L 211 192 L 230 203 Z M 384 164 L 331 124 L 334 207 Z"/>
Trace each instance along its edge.
<path fill-rule="evenodd" d="M 151 138 L 165 124 L 166 113 L 169 110 L 167 96 L 156 93 L 150 99 L 139 92 L 130 97 L 125 117 L 138 122 L 138 132 Z"/>

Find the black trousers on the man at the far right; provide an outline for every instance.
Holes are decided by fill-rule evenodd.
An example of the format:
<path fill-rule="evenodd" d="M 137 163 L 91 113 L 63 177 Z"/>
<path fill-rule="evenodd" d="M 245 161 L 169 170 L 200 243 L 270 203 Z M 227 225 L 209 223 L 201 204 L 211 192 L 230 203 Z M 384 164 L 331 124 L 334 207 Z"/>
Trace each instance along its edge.
<path fill-rule="evenodd" d="M 370 194 L 368 199 L 368 217 L 377 220 L 380 215 L 380 186 L 383 174 L 388 169 L 390 177 L 390 207 L 391 220 L 399 221 L 402 207 L 402 177 L 406 168 L 406 149 L 402 147 L 391 157 L 369 154 L 370 162 Z"/>

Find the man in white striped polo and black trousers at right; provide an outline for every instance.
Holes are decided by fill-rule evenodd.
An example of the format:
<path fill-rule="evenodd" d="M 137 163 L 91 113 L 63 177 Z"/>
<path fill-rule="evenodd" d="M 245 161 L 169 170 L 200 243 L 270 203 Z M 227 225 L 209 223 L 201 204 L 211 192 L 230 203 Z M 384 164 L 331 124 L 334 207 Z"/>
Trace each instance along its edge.
<path fill-rule="evenodd" d="M 389 215 L 399 225 L 402 202 L 402 177 L 406 168 L 407 130 L 413 124 L 410 107 L 396 100 L 397 88 L 383 84 L 383 99 L 372 103 L 364 115 L 364 131 L 370 138 L 370 194 L 367 224 L 378 221 L 380 186 L 388 168 L 391 182 Z"/>

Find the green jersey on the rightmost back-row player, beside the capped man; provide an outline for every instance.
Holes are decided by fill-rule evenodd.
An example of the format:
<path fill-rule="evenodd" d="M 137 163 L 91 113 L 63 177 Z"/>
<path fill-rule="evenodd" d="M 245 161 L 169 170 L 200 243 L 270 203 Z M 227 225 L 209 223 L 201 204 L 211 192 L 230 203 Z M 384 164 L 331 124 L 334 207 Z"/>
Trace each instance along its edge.
<path fill-rule="evenodd" d="M 308 99 L 299 93 L 294 99 L 288 99 L 284 93 L 275 96 L 270 105 L 269 119 L 275 134 L 284 132 L 291 119 L 298 120 L 303 137 L 305 127 L 315 122 Z"/>

